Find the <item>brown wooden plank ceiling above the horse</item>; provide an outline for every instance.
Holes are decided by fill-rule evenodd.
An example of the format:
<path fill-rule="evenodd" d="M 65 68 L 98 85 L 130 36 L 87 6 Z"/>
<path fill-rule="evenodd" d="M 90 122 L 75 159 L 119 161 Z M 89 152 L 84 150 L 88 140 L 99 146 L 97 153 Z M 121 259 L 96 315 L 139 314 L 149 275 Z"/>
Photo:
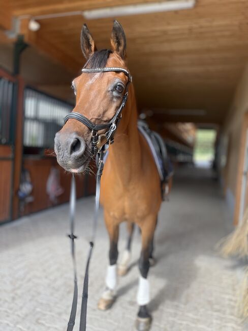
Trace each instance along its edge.
<path fill-rule="evenodd" d="M 5 11 L 9 17 L 36 16 L 144 2 L 152 0 L 9 0 Z M 247 0 L 197 0 L 190 10 L 115 18 L 126 32 L 129 68 L 140 110 L 155 108 L 154 117 L 159 121 L 223 122 L 248 60 Z M 82 23 L 87 23 L 98 49 L 110 47 L 112 18 L 42 19 L 36 33 L 28 31 L 27 22 L 23 19 L 21 24 L 26 41 L 73 75 L 84 64 Z M 4 42 L 1 35 L 0 42 Z M 67 89 L 70 94 L 69 87 L 70 81 L 61 85 L 63 95 Z M 49 89 L 51 92 L 51 86 Z M 166 109 L 176 109 L 177 115 Z M 185 110 L 185 115 L 183 111 L 178 115 L 178 109 Z M 205 115 L 195 114 L 197 109 Z"/>

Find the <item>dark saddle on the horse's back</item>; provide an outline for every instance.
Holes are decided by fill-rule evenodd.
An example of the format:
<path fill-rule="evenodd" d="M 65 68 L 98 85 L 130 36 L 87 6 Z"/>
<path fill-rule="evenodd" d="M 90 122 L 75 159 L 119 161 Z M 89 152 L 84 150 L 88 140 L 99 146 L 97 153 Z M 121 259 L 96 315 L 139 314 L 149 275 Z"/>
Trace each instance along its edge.
<path fill-rule="evenodd" d="M 162 199 L 165 200 L 165 197 L 168 194 L 168 182 L 170 177 L 173 176 L 173 166 L 168 156 L 166 145 L 162 136 L 159 133 L 150 130 L 146 122 L 139 120 L 138 129 L 150 147 L 160 175 Z"/>

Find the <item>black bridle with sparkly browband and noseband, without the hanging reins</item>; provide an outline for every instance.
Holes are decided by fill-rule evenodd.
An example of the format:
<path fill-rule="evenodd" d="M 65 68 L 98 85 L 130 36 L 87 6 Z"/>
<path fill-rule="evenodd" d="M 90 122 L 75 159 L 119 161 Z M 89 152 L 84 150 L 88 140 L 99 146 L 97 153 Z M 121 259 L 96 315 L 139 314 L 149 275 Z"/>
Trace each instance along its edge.
<path fill-rule="evenodd" d="M 114 132 L 118 126 L 118 123 L 121 119 L 121 112 L 122 109 L 125 107 L 127 99 L 128 99 L 128 88 L 130 82 L 132 82 L 132 76 L 130 72 L 124 68 L 119 68 L 119 67 L 105 67 L 105 68 L 95 68 L 95 69 L 88 69 L 88 68 L 83 68 L 82 72 L 85 73 L 96 73 L 96 72 L 109 72 L 109 71 L 114 71 L 114 72 L 123 72 L 125 75 L 128 77 L 128 82 L 125 88 L 125 93 L 122 97 L 121 104 L 117 108 L 116 113 L 114 117 L 111 119 L 110 122 L 106 124 L 95 124 L 91 122 L 87 117 L 85 117 L 82 114 L 79 114 L 77 112 L 72 112 L 68 114 L 64 118 L 64 125 L 69 119 L 74 119 L 82 124 L 86 125 L 90 130 L 91 130 L 91 141 L 92 141 L 92 152 L 96 155 L 102 147 L 108 142 L 109 145 L 113 143 L 114 139 Z M 98 134 L 98 131 L 108 129 L 105 133 L 103 134 Z"/>

